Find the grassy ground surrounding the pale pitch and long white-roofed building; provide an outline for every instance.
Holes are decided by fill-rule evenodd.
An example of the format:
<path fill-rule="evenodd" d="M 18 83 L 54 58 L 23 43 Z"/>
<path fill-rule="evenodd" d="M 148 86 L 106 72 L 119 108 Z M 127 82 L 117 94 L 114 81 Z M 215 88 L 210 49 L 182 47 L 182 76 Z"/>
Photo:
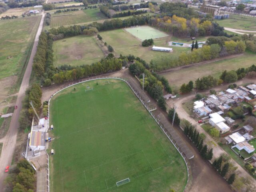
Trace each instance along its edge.
<path fill-rule="evenodd" d="M 114 48 L 116 56 L 118 56 L 119 54 L 132 54 L 136 57 L 140 57 L 146 60 L 146 62 L 150 62 L 152 59 L 160 59 L 162 57 L 176 57 L 180 54 L 180 52 L 190 50 L 189 48 L 172 46 L 173 52 L 152 51 L 152 46 L 142 47 L 141 41 L 139 39 L 135 38 L 123 29 L 100 32 L 100 35 L 102 36 L 104 42 L 107 42 Z M 172 37 L 170 36 L 154 39 L 154 45 L 170 47 L 168 46 L 168 42 L 171 40 Z"/>

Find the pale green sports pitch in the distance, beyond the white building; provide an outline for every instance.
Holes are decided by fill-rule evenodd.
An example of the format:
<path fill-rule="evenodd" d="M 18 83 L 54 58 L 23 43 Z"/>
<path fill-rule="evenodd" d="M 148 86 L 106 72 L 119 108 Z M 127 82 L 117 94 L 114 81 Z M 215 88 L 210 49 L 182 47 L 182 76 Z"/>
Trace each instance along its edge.
<path fill-rule="evenodd" d="M 156 39 L 161 37 L 168 37 L 168 34 L 165 34 L 164 32 L 161 32 L 155 28 L 152 28 L 150 26 L 141 26 L 141 27 L 134 27 L 134 28 L 126 28 L 127 32 L 132 34 L 134 37 L 139 38 L 140 40 L 145 39 Z"/>

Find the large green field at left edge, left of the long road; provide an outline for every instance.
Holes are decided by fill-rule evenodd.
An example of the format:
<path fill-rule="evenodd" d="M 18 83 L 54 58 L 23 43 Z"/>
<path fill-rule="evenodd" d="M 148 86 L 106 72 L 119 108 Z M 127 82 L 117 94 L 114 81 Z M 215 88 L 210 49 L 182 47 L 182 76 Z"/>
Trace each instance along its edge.
<path fill-rule="evenodd" d="M 0 21 L 0 79 L 20 75 L 41 16 Z"/>

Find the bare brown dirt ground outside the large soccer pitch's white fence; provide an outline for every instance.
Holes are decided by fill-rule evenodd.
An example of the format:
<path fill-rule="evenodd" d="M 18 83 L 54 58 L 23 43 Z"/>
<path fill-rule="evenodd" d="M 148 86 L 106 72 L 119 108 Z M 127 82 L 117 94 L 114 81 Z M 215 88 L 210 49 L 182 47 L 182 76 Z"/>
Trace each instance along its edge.
<path fill-rule="evenodd" d="M 113 72 L 109 74 L 104 74 L 104 76 L 132 78 L 128 69 L 120 70 L 118 72 Z M 63 86 L 72 84 L 74 82 L 66 82 L 62 84 L 55 84 L 49 87 L 43 87 L 42 102 L 45 100 L 48 100 L 54 92 L 56 92 Z M 152 101 L 152 103 L 156 104 L 156 102 L 152 98 L 150 98 L 150 100 Z M 166 112 L 158 109 L 157 113 L 160 113 L 160 112 L 162 114 L 165 114 L 166 116 Z M 181 129 L 177 127 L 174 127 L 174 129 L 176 129 L 180 137 L 184 140 L 186 145 L 190 148 L 190 150 L 192 150 L 192 152 L 195 155 L 193 159 L 189 160 L 190 166 L 192 169 L 193 180 L 191 181 L 190 184 L 188 184 L 186 188 L 186 192 L 198 192 L 198 191 L 200 192 L 210 192 L 210 191 L 232 192 L 227 182 L 222 177 L 219 176 L 219 174 L 212 168 L 210 163 L 201 158 L 197 149 L 194 148 L 190 140 L 188 140 L 188 138 L 183 134 Z"/>

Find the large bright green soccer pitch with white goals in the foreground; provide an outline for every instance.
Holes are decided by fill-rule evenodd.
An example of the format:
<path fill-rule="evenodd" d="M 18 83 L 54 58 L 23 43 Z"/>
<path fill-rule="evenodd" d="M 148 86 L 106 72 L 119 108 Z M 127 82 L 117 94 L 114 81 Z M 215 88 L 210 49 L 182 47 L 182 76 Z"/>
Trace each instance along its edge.
<path fill-rule="evenodd" d="M 78 84 L 50 106 L 54 192 L 184 190 L 184 160 L 125 82 Z"/>

